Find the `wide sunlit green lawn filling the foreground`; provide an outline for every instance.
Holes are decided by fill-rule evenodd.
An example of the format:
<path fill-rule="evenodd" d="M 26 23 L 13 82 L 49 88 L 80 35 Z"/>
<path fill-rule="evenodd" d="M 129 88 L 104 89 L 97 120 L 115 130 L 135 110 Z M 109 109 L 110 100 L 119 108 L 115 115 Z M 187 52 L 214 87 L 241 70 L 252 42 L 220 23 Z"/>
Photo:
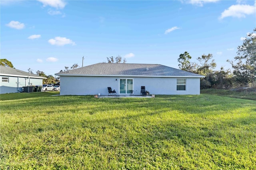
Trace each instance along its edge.
<path fill-rule="evenodd" d="M 256 169 L 253 100 L 20 98 L 1 95 L 0 169 Z"/>

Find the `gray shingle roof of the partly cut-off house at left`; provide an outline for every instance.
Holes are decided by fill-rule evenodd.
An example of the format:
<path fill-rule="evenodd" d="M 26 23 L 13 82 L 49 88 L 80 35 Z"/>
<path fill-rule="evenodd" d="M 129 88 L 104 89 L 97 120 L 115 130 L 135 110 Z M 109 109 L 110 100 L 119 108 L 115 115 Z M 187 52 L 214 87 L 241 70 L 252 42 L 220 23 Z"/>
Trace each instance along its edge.
<path fill-rule="evenodd" d="M 12 76 L 15 76 L 15 77 L 18 77 L 18 76 L 21 76 L 21 77 L 34 77 L 34 78 L 41 78 L 41 79 L 46 79 L 45 77 L 42 77 L 42 76 L 39 76 L 39 75 L 36 75 L 36 74 L 30 74 L 28 72 L 25 72 L 25 71 L 21 71 L 21 70 L 18 70 L 18 69 L 14 69 L 14 68 L 11 68 L 11 67 L 4 67 L 1 65 L 0 67 L 0 74 L 1 75 L 12 75 Z"/>

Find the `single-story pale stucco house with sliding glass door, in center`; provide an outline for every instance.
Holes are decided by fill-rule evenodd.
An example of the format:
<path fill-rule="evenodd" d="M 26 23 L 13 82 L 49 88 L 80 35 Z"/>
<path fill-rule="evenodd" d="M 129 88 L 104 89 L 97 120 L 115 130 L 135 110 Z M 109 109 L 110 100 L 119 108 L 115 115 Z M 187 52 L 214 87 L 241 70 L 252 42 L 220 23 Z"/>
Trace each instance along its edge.
<path fill-rule="evenodd" d="M 141 86 L 156 95 L 199 95 L 200 78 L 188 71 L 160 64 L 97 63 L 60 76 L 60 95 L 108 95 L 112 87 L 119 95 L 140 95 Z"/>

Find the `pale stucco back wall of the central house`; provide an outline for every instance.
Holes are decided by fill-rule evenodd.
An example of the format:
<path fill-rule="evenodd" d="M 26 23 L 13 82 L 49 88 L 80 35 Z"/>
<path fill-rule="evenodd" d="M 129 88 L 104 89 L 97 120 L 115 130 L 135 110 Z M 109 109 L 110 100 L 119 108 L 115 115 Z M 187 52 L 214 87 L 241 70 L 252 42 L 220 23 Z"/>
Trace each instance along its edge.
<path fill-rule="evenodd" d="M 140 95 L 140 87 L 155 95 L 199 95 L 200 78 L 179 77 L 85 77 L 60 76 L 60 95 L 108 95 L 107 87 L 119 94 L 120 79 L 133 79 L 134 95 Z M 117 79 L 117 80 L 116 80 Z M 177 79 L 186 79 L 186 90 L 177 91 Z"/>

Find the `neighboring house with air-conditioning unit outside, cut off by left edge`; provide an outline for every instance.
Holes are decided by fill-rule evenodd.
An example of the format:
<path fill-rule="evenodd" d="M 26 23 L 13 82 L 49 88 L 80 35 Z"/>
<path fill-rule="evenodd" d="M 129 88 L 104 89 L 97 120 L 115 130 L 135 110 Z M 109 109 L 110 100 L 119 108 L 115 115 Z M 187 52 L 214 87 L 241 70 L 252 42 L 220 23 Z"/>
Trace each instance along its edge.
<path fill-rule="evenodd" d="M 42 85 L 43 79 L 46 78 L 11 67 L 4 67 L 1 65 L 0 94 L 22 92 L 22 87 L 24 86 Z"/>

